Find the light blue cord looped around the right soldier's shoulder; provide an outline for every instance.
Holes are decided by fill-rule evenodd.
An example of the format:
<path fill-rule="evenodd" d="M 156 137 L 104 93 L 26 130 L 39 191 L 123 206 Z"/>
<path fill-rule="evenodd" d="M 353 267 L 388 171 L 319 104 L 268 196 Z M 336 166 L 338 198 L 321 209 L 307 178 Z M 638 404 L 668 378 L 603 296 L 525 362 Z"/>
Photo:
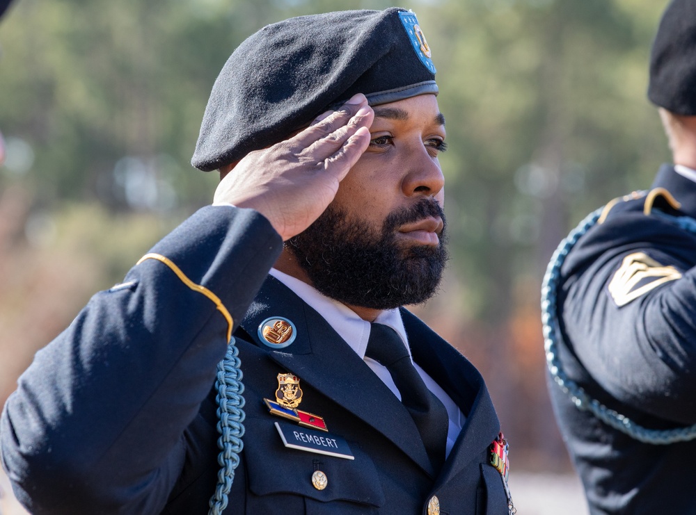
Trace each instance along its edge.
<path fill-rule="evenodd" d="M 615 429 L 628 434 L 631 438 L 643 443 L 654 445 L 666 445 L 680 441 L 690 441 L 696 438 L 696 425 L 689 427 L 679 427 L 672 430 L 650 430 L 642 427 L 630 418 L 617 413 L 613 409 L 601 404 L 596 399 L 591 398 L 576 382 L 569 379 L 564 373 L 560 359 L 558 359 L 558 343 L 562 341 L 558 325 L 558 306 L 557 289 L 560 270 L 566 256 L 571 248 L 577 243 L 580 236 L 583 236 L 592 227 L 603 211 L 597 209 L 594 213 L 587 215 L 587 218 L 580 222 L 578 227 L 561 241 L 553 253 L 551 261 L 546 268 L 544 283 L 541 286 L 541 322 L 544 324 L 544 349 L 546 350 L 546 366 L 551 373 L 554 381 L 561 389 L 569 395 L 571 401 L 578 409 L 590 411 L 594 416 Z M 688 217 L 673 217 L 660 213 L 659 216 L 668 218 L 686 231 L 696 233 L 696 220 Z"/>

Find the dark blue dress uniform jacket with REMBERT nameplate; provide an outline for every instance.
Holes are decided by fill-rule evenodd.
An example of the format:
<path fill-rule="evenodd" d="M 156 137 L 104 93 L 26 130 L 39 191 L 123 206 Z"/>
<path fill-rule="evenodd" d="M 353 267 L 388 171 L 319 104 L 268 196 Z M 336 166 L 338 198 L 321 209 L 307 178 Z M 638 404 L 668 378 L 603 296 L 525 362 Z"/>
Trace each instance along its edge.
<path fill-rule="evenodd" d="M 434 475 L 402 404 L 327 322 L 267 272 L 282 242 L 254 211 L 207 207 L 157 244 L 235 320 L 246 434 L 226 514 L 505 514 L 488 464 L 500 430 L 475 368 L 402 312 L 414 359 L 466 414 Z M 246 318 L 245 318 L 246 316 Z M 259 323 L 283 316 L 292 345 L 271 350 Z M 212 300 L 155 259 L 97 293 L 19 380 L 1 420 L 3 465 L 34 514 L 205 514 L 219 471 L 214 384 L 228 322 Z M 299 376 L 300 409 L 324 417 L 354 460 L 285 448 L 269 414 L 278 373 Z M 317 490 L 315 470 L 328 478 Z"/>

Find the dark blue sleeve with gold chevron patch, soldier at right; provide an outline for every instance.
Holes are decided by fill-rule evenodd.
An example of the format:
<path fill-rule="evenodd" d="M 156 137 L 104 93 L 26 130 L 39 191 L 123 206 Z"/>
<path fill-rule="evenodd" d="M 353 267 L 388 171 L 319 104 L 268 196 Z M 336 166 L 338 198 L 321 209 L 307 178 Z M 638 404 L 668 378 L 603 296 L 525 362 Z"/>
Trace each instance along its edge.
<path fill-rule="evenodd" d="M 562 286 L 564 332 L 592 380 L 677 425 L 696 423 L 695 251 L 672 222 L 619 217 L 578 242 Z"/>

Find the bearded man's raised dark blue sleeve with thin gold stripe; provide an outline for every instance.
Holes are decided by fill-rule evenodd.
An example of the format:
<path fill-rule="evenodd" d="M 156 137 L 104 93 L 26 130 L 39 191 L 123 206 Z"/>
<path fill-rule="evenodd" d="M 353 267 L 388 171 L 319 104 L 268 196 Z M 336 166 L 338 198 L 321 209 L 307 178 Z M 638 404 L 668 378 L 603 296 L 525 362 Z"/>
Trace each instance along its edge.
<path fill-rule="evenodd" d="M 219 306 L 236 327 L 281 248 L 255 211 L 201 209 L 150 252 L 175 267 L 145 259 L 36 354 L 0 421 L 3 466 L 33 514 L 161 511 L 226 352 Z"/>

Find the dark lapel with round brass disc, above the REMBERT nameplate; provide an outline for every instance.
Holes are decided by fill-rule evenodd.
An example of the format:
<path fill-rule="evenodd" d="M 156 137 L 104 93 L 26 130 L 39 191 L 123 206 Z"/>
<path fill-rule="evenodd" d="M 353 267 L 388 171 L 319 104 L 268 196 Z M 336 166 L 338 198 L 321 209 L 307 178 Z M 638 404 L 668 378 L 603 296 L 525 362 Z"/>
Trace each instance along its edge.
<path fill-rule="evenodd" d="M 292 320 L 297 330 L 292 345 L 269 349 L 271 359 L 374 427 L 433 474 L 425 448 L 414 445 L 420 436 L 403 404 L 319 313 L 274 277 L 265 281 L 242 321 L 242 328 L 261 348 L 267 347 L 260 341 L 258 327 L 271 316 Z"/>

